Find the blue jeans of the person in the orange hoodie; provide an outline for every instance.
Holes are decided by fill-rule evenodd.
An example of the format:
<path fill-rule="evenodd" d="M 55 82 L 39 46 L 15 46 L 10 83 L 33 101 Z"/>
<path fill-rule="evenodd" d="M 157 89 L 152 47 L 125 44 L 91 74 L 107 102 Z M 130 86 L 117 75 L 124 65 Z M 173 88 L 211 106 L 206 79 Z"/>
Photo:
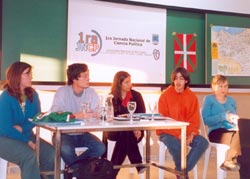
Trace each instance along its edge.
<path fill-rule="evenodd" d="M 176 170 L 181 170 L 181 141 L 176 137 L 169 134 L 161 134 L 160 141 L 162 141 L 168 148 L 169 153 L 172 155 Z M 187 155 L 187 172 L 192 170 L 202 154 L 208 147 L 208 141 L 200 136 L 196 135 L 190 143 L 190 151 Z"/>

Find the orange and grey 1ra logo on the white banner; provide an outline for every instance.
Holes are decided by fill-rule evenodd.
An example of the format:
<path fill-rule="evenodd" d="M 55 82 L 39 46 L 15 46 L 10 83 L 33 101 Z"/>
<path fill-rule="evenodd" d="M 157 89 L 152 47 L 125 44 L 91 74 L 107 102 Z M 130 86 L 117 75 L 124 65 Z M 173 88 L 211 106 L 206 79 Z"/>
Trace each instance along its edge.
<path fill-rule="evenodd" d="M 102 38 L 100 34 L 91 30 L 92 34 L 86 34 L 84 36 L 83 32 L 80 32 L 79 40 L 76 42 L 76 51 L 85 51 L 91 53 L 91 56 L 97 55 L 102 49 Z M 85 41 L 83 40 L 85 37 Z"/>

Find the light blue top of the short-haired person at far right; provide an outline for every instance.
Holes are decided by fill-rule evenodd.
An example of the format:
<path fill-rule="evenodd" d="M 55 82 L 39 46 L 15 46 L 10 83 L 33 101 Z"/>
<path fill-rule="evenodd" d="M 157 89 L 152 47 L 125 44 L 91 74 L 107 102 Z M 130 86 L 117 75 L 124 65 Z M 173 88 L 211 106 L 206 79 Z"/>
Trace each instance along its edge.
<path fill-rule="evenodd" d="M 208 126 L 208 133 L 219 128 L 227 130 L 237 128 L 235 124 L 228 122 L 227 112 L 237 114 L 236 102 L 232 97 L 227 96 L 224 104 L 219 103 L 213 94 L 205 97 L 202 107 L 202 117 L 204 123 Z"/>

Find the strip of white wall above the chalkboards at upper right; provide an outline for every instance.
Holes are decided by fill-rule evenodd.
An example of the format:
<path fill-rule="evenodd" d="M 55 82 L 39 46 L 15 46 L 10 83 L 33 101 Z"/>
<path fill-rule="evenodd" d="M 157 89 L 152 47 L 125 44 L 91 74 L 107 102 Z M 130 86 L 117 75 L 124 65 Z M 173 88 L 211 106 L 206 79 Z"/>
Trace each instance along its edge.
<path fill-rule="evenodd" d="M 249 0 L 128 0 L 166 6 L 250 14 Z"/>

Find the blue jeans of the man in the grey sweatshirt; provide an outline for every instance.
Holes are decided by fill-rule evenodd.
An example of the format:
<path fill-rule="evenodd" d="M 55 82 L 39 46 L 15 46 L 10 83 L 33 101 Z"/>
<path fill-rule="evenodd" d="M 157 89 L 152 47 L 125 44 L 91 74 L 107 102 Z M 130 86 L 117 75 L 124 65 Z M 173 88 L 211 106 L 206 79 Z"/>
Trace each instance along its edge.
<path fill-rule="evenodd" d="M 88 149 L 77 156 L 75 153 L 76 147 L 87 147 Z M 63 134 L 61 136 L 61 156 L 66 164 L 71 164 L 79 159 L 98 158 L 105 150 L 105 145 L 95 135 L 88 132 L 77 135 Z"/>

